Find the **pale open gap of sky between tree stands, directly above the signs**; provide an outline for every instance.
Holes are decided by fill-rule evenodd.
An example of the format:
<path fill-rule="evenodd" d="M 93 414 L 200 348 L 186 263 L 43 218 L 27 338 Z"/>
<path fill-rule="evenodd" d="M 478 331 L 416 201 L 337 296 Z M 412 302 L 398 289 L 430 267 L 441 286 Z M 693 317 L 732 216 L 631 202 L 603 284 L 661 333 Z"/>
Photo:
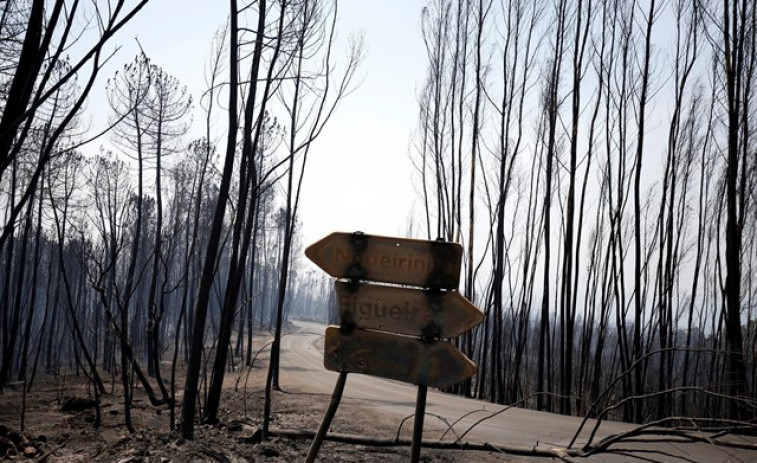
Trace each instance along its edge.
<path fill-rule="evenodd" d="M 404 235 L 417 195 L 410 137 L 426 68 L 420 35 L 423 2 L 348 0 L 340 30 L 362 30 L 367 56 L 362 84 L 314 148 L 303 196 L 303 232 Z"/>

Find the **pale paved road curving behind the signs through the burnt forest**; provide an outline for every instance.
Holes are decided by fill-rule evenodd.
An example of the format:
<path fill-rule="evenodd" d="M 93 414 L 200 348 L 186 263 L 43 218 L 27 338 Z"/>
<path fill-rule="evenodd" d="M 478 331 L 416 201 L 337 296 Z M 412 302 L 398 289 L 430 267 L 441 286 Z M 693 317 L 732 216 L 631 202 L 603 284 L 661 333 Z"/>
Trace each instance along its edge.
<path fill-rule="evenodd" d="M 312 323 L 297 323 L 297 331 L 282 340 L 281 382 L 284 389 L 293 392 L 307 392 L 329 395 L 334 389 L 337 374 L 323 367 L 323 332 L 324 326 Z M 396 381 L 388 381 L 366 375 L 351 374 L 347 378 L 343 402 L 353 401 L 385 416 L 394 416 L 397 423 L 414 413 L 417 388 Z M 328 400 L 324 397 L 323 400 Z M 470 442 L 492 442 L 514 446 L 539 446 L 550 448 L 566 446 L 581 420 L 551 413 L 506 408 L 504 406 L 466 399 L 444 394 L 429 389 L 427 399 L 427 417 L 424 426 L 424 438 L 439 438 L 445 427 L 435 417 L 443 417 L 454 425 L 457 434 L 473 427 L 463 440 Z M 473 413 L 471 413 L 473 412 Z M 467 416 L 466 416 L 467 414 Z M 339 413 L 337 412 L 337 419 Z M 461 419 L 462 418 L 462 419 Z M 585 442 L 594 422 L 587 423 L 578 442 Z M 412 430 L 412 419 L 405 428 Z M 604 422 L 597 437 L 632 429 L 633 425 L 617 422 Z M 404 429 L 404 428 L 403 428 Z M 382 436 L 389 437 L 389 436 Z M 454 439 L 452 433 L 446 438 Z M 757 441 L 755 448 L 757 449 Z M 624 449 L 641 450 L 637 452 L 640 459 L 629 456 L 596 455 L 586 461 L 622 462 L 622 461 L 660 461 L 660 462 L 757 462 L 757 450 L 744 451 L 722 448 L 706 444 L 655 443 L 624 444 Z M 664 455 L 670 454 L 670 455 Z M 674 456 L 671 456 L 674 455 Z"/>

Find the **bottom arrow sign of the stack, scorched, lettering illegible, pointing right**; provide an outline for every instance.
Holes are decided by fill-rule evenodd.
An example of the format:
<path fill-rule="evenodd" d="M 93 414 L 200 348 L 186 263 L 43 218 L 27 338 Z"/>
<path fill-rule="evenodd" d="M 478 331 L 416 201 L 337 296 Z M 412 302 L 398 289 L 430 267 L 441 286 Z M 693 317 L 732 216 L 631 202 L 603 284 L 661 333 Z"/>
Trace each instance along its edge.
<path fill-rule="evenodd" d="M 408 383 L 449 387 L 470 378 L 476 365 L 446 341 L 337 326 L 326 328 L 324 366 L 342 373 L 364 373 Z"/>

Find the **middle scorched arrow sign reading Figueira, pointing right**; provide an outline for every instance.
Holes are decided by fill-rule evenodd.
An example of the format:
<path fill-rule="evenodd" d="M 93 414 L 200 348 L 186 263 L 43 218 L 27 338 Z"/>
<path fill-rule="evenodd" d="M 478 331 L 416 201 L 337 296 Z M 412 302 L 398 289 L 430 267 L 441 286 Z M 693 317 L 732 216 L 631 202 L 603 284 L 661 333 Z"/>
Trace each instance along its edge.
<path fill-rule="evenodd" d="M 453 338 L 484 320 L 457 291 L 337 281 L 336 300 L 342 326 L 424 338 Z"/>

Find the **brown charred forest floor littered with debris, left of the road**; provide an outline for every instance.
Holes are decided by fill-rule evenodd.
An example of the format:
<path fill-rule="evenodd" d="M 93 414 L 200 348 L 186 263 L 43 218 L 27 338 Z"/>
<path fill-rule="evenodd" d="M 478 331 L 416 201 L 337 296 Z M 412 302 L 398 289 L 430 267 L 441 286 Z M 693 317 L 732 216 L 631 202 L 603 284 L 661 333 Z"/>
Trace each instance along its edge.
<path fill-rule="evenodd" d="M 164 366 L 165 370 L 170 365 Z M 249 371 L 249 377 L 247 372 Z M 95 410 L 64 412 L 71 398 L 90 399 L 83 376 L 41 376 L 25 397 L 26 412 L 21 428 L 23 387 L 6 387 L 0 394 L 0 461 L 34 462 L 270 462 L 304 461 L 310 439 L 274 437 L 267 442 L 254 438 L 262 423 L 264 384 L 267 369 L 254 367 L 226 375 L 220 424 L 198 425 L 195 439 L 188 441 L 170 430 L 167 406 L 154 407 L 135 387 L 132 419 L 136 432 L 124 425 L 119 381 L 108 379 L 109 393 L 101 398 L 102 423 L 94 426 Z M 167 373 L 164 373 L 167 375 Z M 180 375 L 177 375 L 180 376 Z M 245 382 L 246 388 L 245 388 Z M 177 388 L 177 391 L 180 390 Z M 67 402 L 68 401 L 68 402 Z M 314 432 L 329 403 L 322 394 L 274 392 L 272 429 Z M 178 414 L 178 410 L 177 410 Z M 391 436 L 392 421 L 358 404 L 343 403 L 331 432 L 365 437 Z M 412 424 L 410 426 L 412 427 Z M 403 437 L 406 437 L 403 435 Z M 10 442 L 15 443 L 10 448 Z M 319 462 L 406 462 L 409 447 L 374 447 L 324 442 Z M 524 462 L 537 461 L 494 452 L 422 449 L 421 461 L 431 462 Z M 541 459 L 538 461 L 546 461 Z"/>

